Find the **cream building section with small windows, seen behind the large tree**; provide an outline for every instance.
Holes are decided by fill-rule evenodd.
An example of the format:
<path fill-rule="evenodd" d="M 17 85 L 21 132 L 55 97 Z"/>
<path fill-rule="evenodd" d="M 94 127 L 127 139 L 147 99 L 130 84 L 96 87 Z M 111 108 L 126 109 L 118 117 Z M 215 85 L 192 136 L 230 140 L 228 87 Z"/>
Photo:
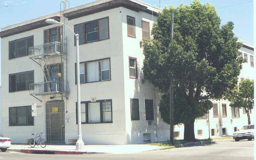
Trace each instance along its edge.
<path fill-rule="evenodd" d="M 241 56 L 247 59 L 247 62 L 243 63 L 243 68 L 239 75 L 239 82 L 241 79 L 251 79 L 254 80 L 254 47 L 252 44 L 239 40 L 243 43 L 243 46 L 239 49 Z M 247 114 L 243 108 L 231 108 L 230 102 L 227 100 L 213 100 L 213 107 L 209 110 L 208 114 L 205 116 L 195 119 L 195 138 L 197 139 L 207 139 L 210 137 L 219 136 L 231 136 L 234 131 L 241 129 L 243 125 L 248 124 Z M 250 112 L 251 124 L 254 123 L 253 110 Z M 209 121 L 209 126 L 208 126 Z M 175 126 L 175 132 L 177 139 L 183 139 L 184 126 Z"/>

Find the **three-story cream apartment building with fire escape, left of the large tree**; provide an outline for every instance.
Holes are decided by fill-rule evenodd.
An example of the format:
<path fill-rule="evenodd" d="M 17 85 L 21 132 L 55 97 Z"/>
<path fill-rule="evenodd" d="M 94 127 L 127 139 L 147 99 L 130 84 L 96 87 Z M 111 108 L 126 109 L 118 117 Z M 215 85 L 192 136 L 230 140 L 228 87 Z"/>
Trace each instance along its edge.
<path fill-rule="evenodd" d="M 2 28 L 3 134 L 13 143 L 41 132 L 48 143 L 77 138 L 76 44 L 67 27 L 45 23 L 52 18 L 79 34 L 84 143 L 167 140 L 160 94 L 142 73 L 141 41 L 160 11 L 138 0 L 99 0 Z"/>

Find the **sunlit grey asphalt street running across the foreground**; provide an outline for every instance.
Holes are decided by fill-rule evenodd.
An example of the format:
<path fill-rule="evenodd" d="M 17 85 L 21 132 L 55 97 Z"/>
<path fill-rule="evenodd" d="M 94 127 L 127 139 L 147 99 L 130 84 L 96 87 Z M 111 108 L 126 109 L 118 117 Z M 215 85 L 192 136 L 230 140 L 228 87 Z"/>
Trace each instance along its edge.
<path fill-rule="evenodd" d="M 0 152 L 0 160 L 253 160 L 253 141 L 225 142 L 136 154 L 52 155 Z"/>

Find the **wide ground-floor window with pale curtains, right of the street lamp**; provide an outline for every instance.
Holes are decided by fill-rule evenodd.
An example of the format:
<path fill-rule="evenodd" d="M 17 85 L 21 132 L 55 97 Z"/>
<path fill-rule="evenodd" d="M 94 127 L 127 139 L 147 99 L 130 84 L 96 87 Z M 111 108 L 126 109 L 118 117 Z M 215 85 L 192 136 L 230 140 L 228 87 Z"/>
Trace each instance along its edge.
<path fill-rule="evenodd" d="M 112 100 L 81 102 L 81 123 L 112 123 Z"/>

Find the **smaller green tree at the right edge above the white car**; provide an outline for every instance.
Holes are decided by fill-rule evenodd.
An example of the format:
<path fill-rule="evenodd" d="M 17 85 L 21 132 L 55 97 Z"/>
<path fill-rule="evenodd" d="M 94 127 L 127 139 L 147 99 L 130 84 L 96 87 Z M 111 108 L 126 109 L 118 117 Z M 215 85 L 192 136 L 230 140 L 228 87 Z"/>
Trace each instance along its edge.
<path fill-rule="evenodd" d="M 254 84 L 250 79 L 242 80 L 239 86 L 233 88 L 232 92 L 227 95 L 230 106 L 233 108 L 244 108 L 247 113 L 248 125 L 250 125 L 250 113 L 254 106 Z"/>

